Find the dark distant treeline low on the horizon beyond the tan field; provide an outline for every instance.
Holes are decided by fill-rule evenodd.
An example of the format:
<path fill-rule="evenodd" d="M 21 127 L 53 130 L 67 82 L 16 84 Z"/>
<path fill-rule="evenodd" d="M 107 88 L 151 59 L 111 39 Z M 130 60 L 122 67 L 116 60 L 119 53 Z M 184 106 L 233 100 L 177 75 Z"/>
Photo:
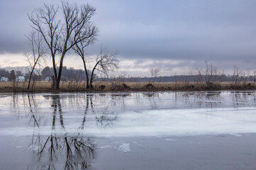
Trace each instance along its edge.
<path fill-rule="evenodd" d="M 14 75 L 13 75 L 14 74 Z M 89 72 L 91 74 L 91 72 Z M 53 75 L 53 69 L 51 67 L 45 67 L 42 71 L 33 74 L 33 79 L 45 80 L 47 77 Z M 9 78 L 9 80 L 15 79 L 15 77 L 24 76 L 28 79 L 29 73 L 24 73 L 17 70 L 0 69 L 0 77 Z M 123 81 L 123 82 L 199 82 L 206 81 L 209 75 L 174 75 L 165 77 L 130 77 L 130 76 L 117 76 L 117 77 L 97 77 L 95 81 Z M 235 74 L 235 75 L 211 75 L 211 81 L 255 81 L 255 75 Z M 62 69 L 62 81 L 85 81 L 86 75 L 83 69 L 74 69 L 63 67 Z"/>

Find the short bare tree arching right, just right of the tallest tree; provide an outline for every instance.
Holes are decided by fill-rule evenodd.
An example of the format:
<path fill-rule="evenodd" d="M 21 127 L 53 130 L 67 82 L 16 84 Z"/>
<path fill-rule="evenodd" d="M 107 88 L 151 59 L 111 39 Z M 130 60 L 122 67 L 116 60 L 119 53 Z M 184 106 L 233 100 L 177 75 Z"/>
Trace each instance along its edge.
<path fill-rule="evenodd" d="M 92 83 L 94 82 L 95 71 L 108 74 L 109 71 L 113 69 L 118 69 L 118 52 L 108 52 L 106 47 L 101 47 L 99 55 L 95 58 L 95 64 L 93 69 L 91 69 L 91 78 L 89 87 L 92 89 Z"/>

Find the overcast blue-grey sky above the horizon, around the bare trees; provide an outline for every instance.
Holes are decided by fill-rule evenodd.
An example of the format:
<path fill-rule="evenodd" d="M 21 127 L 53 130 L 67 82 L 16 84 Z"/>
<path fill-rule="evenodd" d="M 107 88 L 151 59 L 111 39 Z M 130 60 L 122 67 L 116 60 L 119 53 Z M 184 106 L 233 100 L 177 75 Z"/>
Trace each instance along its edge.
<path fill-rule="evenodd" d="M 0 67 L 26 66 L 26 35 L 31 30 L 27 13 L 48 0 L 0 0 Z M 234 65 L 256 69 L 255 0 L 73 0 L 96 7 L 91 18 L 99 36 L 88 48 L 91 55 L 101 45 L 117 50 L 118 72 L 148 76 L 150 67 L 160 75 L 187 74 L 205 61 L 226 73 Z M 51 66 L 50 60 L 46 63 Z M 67 67 L 82 69 L 82 60 L 67 55 Z"/>

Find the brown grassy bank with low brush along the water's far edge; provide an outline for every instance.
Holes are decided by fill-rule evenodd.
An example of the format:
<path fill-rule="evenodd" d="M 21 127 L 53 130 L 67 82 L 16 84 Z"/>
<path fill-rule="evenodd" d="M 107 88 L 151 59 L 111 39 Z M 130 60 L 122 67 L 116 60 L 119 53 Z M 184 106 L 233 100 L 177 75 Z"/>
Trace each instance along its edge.
<path fill-rule="evenodd" d="M 29 90 L 27 82 L 11 81 L 0 82 L 0 93 L 6 92 L 72 92 L 72 91 L 211 91 L 211 90 L 252 90 L 256 89 L 253 82 L 247 84 L 233 84 L 231 82 L 221 82 L 219 84 L 204 83 L 183 83 L 183 82 L 94 82 L 93 89 L 85 89 L 85 82 L 61 82 L 60 89 L 51 87 L 51 82 L 37 81 Z"/>

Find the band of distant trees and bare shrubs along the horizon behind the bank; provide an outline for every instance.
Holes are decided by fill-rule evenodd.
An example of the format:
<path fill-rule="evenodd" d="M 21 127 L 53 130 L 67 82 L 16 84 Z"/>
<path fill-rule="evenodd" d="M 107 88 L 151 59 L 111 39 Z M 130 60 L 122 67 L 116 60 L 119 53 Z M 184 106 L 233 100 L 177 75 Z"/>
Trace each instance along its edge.
<path fill-rule="evenodd" d="M 28 70 L 28 69 L 27 69 Z M 128 75 L 128 72 L 121 72 L 115 77 L 100 77 L 97 74 L 92 74 L 92 72 L 87 69 L 84 72 L 83 69 L 74 69 L 72 67 L 68 68 L 66 66 L 62 69 L 62 81 L 87 81 L 87 77 L 93 77 L 95 81 L 121 81 L 121 82 L 218 82 L 218 81 L 234 81 L 235 83 L 250 81 L 256 81 L 256 72 L 250 72 L 249 70 L 239 69 L 238 67 L 233 68 L 233 74 L 224 74 L 223 70 L 217 69 L 212 63 L 206 62 L 205 67 L 198 69 L 196 68 L 194 72 L 189 72 L 184 75 L 170 75 L 170 76 L 160 76 L 160 69 L 150 68 L 150 77 L 133 77 Z M 57 72 L 59 69 L 57 67 Z M 32 80 L 40 81 L 47 77 L 54 75 L 54 69 L 52 67 L 44 67 L 41 70 L 33 72 Z M 7 77 L 10 81 L 13 81 L 18 76 L 25 77 L 26 80 L 30 78 L 30 72 L 21 72 L 20 70 L 11 71 L 7 69 L 0 69 L 0 77 Z"/>

